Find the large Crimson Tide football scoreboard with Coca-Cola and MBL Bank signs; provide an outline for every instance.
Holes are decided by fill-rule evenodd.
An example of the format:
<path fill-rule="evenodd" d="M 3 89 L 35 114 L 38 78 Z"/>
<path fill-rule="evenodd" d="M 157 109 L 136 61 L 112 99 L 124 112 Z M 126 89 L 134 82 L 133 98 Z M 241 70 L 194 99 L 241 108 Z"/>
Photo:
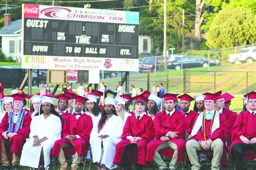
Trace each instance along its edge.
<path fill-rule="evenodd" d="M 22 67 L 138 71 L 139 13 L 23 4 Z"/>

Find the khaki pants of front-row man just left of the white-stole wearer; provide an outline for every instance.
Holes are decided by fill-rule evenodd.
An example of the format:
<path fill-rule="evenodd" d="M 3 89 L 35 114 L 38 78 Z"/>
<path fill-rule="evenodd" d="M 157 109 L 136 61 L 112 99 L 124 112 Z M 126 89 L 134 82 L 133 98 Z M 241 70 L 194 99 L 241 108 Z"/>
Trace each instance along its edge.
<path fill-rule="evenodd" d="M 173 143 L 172 141 L 166 141 L 164 142 L 164 144 L 161 144 L 157 149 L 156 152 L 154 153 L 154 162 L 156 162 L 157 166 L 159 168 L 167 168 L 166 163 L 163 161 L 163 159 L 161 158 L 161 155 L 158 153 L 159 151 L 161 151 L 161 149 L 164 148 L 171 148 L 174 150 L 173 156 L 172 156 L 172 160 L 169 164 L 169 168 L 173 168 L 176 169 L 177 168 L 177 159 L 178 159 L 178 149 L 177 149 L 177 145 L 175 143 Z"/>

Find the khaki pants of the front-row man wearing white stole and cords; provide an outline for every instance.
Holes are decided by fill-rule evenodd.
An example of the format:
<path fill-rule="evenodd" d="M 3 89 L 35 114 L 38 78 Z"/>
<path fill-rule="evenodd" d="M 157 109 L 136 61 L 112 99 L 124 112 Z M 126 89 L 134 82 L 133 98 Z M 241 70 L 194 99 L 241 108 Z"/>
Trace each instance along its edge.
<path fill-rule="evenodd" d="M 203 147 L 201 147 L 197 140 L 192 139 L 187 141 L 186 150 L 192 164 L 191 169 L 200 169 L 201 165 L 198 161 L 197 151 L 204 151 Z M 220 169 L 219 165 L 223 154 L 223 141 L 219 138 L 212 141 L 210 150 L 213 151 L 211 169 Z"/>

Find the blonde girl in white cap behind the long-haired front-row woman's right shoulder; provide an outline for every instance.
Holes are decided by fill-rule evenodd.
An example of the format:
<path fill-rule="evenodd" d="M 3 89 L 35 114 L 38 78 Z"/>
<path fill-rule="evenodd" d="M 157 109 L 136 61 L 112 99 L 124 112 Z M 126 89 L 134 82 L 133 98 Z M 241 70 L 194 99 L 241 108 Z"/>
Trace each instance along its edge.
<path fill-rule="evenodd" d="M 122 118 L 123 123 L 124 123 L 124 125 L 125 125 L 125 122 L 126 122 L 127 118 L 128 118 L 130 115 L 132 115 L 131 113 L 128 113 L 128 112 L 125 111 L 125 103 L 126 103 L 126 101 L 129 101 L 129 100 L 128 100 L 128 99 L 124 99 L 124 98 L 119 97 L 119 96 L 116 97 L 116 98 L 114 98 L 114 99 L 116 99 L 116 100 L 118 101 L 118 103 L 116 104 L 117 115 L 118 115 L 120 118 Z M 124 126 L 124 125 L 123 125 L 123 126 Z"/>

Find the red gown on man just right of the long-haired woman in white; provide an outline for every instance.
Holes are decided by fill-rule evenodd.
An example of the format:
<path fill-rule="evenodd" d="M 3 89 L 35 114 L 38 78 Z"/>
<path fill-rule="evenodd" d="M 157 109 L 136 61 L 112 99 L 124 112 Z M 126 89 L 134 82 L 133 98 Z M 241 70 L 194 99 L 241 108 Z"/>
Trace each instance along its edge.
<path fill-rule="evenodd" d="M 144 113 L 142 113 L 144 114 Z M 129 139 L 126 139 L 128 136 L 140 137 L 142 138 L 136 144 L 131 144 Z M 116 146 L 116 154 L 114 155 L 113 163 L 121 165 L 122 156 L 124 153 L 125 146 L 127 145 L 137 145 L 138 147 L 138 160 L 137 157 L 129 158 L 130 162 L 137 162 L 137 164 L 146 166 L 146 145 L 154 137 L 154 127 L 153 120 L 149 115 L 144 114 L 143 117 L 138 121 L 135 114 L 129 116 L 126 120 L 122 141 L 120 141 Z M 135 149 L 135 147 L 134 147 Z M 134 153 L 134 152 L 133 152 Z"/>

